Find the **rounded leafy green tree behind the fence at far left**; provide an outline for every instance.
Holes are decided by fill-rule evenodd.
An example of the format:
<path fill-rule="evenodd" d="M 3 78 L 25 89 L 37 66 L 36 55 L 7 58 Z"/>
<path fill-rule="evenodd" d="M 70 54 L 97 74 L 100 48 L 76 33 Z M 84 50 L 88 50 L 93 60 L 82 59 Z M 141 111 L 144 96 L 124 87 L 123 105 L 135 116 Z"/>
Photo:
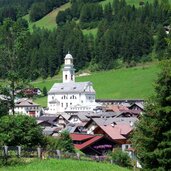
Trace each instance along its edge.
<path fill-rule="evenodd" d="M 36 147 L 44 145 L 42 130 L 35 118 L 8 115 L 0 119 L 0 145 Z"/>

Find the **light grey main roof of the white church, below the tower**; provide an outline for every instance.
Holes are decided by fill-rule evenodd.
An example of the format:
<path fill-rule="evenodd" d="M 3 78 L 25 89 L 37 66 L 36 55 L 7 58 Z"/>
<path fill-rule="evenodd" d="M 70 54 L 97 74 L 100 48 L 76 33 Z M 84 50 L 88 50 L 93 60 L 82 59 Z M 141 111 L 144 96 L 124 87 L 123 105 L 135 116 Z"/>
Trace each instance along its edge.
<path fill-rule="evenodd" d="M 87 87 L 90 86 L 90 90 Z M 55 83 L 48 94 L 60 93 L 95 93 L 91 82 Z"/>

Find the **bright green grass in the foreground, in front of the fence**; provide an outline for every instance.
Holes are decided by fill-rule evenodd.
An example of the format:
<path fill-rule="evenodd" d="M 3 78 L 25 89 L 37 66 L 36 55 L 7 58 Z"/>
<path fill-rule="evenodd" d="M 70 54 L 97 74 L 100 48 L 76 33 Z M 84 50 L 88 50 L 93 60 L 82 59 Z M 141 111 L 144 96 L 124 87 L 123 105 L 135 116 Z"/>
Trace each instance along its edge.
<path fill-rule="evenodd" d="M 0 171 L 129 171 L 116 165 L 76 160 L 36 160 L 30 164 L 3 167 Z"/>

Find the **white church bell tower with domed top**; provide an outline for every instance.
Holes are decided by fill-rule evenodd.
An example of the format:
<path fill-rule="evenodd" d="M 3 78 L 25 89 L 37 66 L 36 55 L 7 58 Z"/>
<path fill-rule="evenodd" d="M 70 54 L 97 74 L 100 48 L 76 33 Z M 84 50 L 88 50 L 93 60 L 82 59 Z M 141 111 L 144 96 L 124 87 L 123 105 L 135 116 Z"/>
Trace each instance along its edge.
<path fill-rule="evenodd" d="M 68 53 L 64 60 L 63 83 L 75 82 L 75 69 L 72 55 Z"/>

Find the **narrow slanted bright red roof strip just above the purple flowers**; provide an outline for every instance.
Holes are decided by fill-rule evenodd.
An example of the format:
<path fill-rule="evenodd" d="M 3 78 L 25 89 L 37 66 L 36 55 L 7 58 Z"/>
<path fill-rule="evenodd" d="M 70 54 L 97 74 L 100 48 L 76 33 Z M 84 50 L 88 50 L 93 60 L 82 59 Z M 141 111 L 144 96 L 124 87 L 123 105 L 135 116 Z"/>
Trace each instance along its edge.
<path fill-rule="evenodd" d="M 103 136 L 100 135 L 95 135 L 94 137 L 92 137 L 90 140 L 84 142 L 83 144 L 74 144 L 74 147 L 82 150 L 87 146 L 90 146 L 91 144 L 95 143 L 96 141 L 100 140 L 101 138 L 103 138 Z"/>

